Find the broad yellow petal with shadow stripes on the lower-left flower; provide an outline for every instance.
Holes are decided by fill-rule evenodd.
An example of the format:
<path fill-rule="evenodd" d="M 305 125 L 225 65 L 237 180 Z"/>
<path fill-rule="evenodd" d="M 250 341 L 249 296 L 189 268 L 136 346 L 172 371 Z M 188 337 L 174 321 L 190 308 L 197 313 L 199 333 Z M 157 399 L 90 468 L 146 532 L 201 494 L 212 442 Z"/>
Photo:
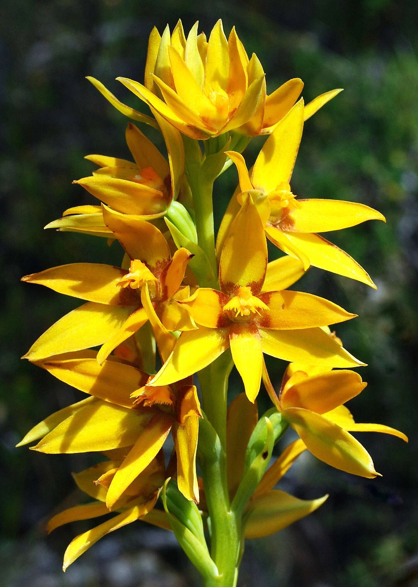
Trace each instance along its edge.
<path fill-rule="evenodd" d="M 106 402 L 85 406 L 33 447 L 40 453 L 88 453 L 134 444 L 150 414 Z"/>

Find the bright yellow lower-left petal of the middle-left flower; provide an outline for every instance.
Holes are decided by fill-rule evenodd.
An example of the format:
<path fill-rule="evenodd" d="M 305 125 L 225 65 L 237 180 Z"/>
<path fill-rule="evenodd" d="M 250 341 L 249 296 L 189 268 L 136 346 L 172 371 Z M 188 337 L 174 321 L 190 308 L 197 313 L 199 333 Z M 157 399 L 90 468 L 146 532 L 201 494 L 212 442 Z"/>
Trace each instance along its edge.
<path fill-rule="evenodd" d="M 38 361 L 102 345 L 120 329 L 132 308 L 87 302 L 63 316 L 36 340 L 23 359 Z"/>

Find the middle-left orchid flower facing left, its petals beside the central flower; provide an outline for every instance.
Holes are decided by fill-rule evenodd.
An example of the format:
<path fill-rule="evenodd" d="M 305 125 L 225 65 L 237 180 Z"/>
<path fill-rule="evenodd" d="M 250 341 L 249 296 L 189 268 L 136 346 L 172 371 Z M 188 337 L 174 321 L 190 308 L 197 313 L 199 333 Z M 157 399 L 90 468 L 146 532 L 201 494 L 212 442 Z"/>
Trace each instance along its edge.
<path fill-rule="evenodd" d="M 103 362 L 150 321 L 165 360 L 176 341 L 170 331 L 195 328 L 187 310 L 176 303 L 190 295 L 189 287 L 181 282 L 193 255 L 180 248 L 171 257 L 163 234 L 141 218 L 107 207 L 103 207 L 103 218 L 131 259 L 130 270 L 75 263 L 23 277 L 22 281 L 88 301 L 36 340 L 26 359 L 36 361 L 103 345 L 97 355 Z"/>

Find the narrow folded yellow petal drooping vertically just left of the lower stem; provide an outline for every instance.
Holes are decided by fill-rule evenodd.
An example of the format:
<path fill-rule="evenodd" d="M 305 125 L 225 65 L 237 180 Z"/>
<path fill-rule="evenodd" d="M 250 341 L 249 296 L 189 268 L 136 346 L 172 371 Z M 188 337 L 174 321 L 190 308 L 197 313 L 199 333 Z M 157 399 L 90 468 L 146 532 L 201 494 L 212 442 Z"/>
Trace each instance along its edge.
<path fill-rule="evenodd" d="M 188 417 L 184 425 L 174 424 L 173 440 L 177 454 L 177 487 L 187 500 L 199 502 L 199 487 L 196 473 L 197 416 Z"/>

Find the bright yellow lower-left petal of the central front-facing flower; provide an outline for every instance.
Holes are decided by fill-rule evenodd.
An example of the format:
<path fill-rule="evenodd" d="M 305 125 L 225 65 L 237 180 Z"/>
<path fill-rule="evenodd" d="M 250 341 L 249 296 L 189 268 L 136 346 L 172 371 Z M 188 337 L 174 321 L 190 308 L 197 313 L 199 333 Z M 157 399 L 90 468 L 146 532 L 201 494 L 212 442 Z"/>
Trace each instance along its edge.
<path fill-rule="evenodd" d="M 182 332 L 173 353 L 151 381 L 168 385 L 207 367 L 230 346 L 227 329 L 199 328 Z"/>

